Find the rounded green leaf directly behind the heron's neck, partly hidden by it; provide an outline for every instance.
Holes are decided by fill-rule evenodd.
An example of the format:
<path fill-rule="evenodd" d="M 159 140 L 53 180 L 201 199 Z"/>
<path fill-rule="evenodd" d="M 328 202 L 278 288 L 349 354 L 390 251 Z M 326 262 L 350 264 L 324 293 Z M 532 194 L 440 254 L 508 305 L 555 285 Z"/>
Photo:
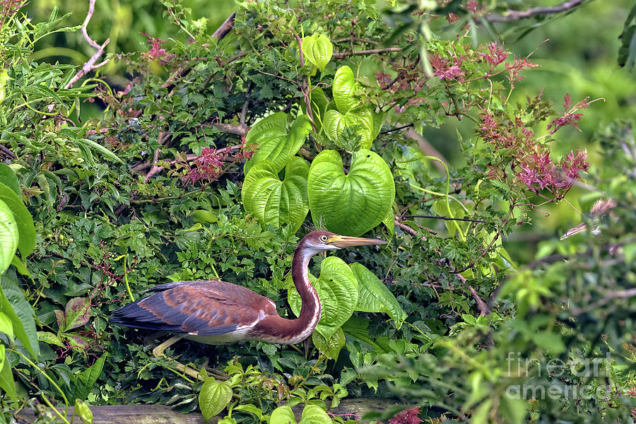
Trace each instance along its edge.
<path fill-rule="evenodd" d="M 322 303 L 320 322 L 316 327 L 329 340 L 344 324 L 358 305 L 358 280 L 345 261 L 338 257 L 328 257 L 320 264 L 320 276 L 309 274 L 310 281 Z M 290 288 L 287 298 L 292 311 L 300 315 L 300 295 Z"/>

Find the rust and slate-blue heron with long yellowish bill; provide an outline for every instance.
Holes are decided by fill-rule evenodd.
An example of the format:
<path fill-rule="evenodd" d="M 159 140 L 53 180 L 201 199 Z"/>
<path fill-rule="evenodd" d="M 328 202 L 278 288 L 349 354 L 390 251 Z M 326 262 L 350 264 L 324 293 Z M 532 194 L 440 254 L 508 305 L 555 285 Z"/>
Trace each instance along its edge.
<path fill-rule="evenodd" d="M 292 280 L 301 300 L 296 319 L 281 317 L 273 300 L 240 285 L 225 281 L 180 281 L 147 290 L 153 294 L 115 310 L 109 321 L 174 334 L 153 349 L 155 358 L 182 338 L 213 345 L 249 340 L 300 343 L 312 334 L 321 312 L 318 293 L 308 276 L 310 259 L 328 250 L 386 243 L 327 231 L 305 235 L 292 260 Z M 192 377 L 199 376 L 182 364 L 178 364 L 177 369 Z"/>

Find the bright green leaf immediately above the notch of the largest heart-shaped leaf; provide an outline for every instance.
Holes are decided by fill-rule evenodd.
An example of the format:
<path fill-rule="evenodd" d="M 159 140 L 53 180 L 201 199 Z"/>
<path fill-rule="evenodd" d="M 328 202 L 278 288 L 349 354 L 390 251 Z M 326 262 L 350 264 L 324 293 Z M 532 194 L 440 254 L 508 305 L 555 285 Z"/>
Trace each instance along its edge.
<path fill-rule="evenodd" d="M 324 114 L 324 134 L 329 140 L 339 144 L 343 131 L 346 128 L 352 128 L 355 129 L 355 134 L 360 136 L 360 148 L 371 148 L 371 143 L 376 136 L 374 115 L 377 114 L 373 112 L 371 106 L 358 107 L 346 114 L 333 109 L 328 110 Z"/>

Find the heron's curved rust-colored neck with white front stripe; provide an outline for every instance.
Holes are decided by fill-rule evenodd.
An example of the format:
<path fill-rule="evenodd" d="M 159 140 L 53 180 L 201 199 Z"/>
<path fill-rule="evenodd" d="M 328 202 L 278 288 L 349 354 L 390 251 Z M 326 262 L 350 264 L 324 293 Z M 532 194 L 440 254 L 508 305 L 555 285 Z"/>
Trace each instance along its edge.
<path fill-rule="evenodd" d="M 308 267 L 314 254 L 304 242 L 294 252 L 292 279 L 302 302 L 298 318 L 285 319 L 278 315 L 266 317 L 254 327 L 255 338 L 269 343 L 293 344 L 312 334 L 321 312 L 318 293 L 309 281 Z"/>

